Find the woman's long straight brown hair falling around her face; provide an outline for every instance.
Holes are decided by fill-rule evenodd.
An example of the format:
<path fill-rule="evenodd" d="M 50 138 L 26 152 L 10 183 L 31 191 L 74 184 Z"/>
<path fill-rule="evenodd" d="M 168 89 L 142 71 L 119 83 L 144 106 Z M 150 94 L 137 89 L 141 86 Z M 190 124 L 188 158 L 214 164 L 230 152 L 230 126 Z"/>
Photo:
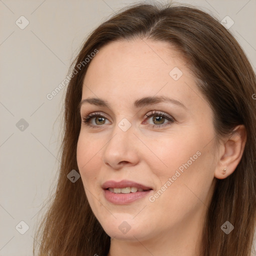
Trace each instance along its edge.
<path fill-rule="evenodd" d="M 75 169 L 76 145 L 80 131 L 78 105 L 88 54 L 109 42 L 148 38 L 167 41 L 188 60 L 198 87 L 214 112 L 217 135 L 228 135 L 238 124 L 247 131 L 242 158 L 235 171 L 217 179 L 207 209 L 201 241 L 203 256 L 251 256 L 256 216 L 256 92 L 255 73 L 243 50 L 219 21 L 188 5 L 139 3 L 128 6 L 100 24 L 84 42 L 70 72 L 65 96 L 64 136 L 58 182 L 50 207 L 37 230 L 34 253 L 51 256 L 106 255 L 110 237 L 88 204 L 79 178 L 70 182 Z M 255 95 L 255 94 L 254 94 Z M 229 221 L 228 235 L 221 225 Z"/>

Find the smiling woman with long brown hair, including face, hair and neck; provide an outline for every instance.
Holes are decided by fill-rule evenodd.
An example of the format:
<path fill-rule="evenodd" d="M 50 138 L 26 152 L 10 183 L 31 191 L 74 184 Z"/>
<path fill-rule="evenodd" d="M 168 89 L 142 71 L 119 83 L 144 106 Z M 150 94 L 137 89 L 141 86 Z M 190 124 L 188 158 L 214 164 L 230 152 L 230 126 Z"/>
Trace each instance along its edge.
<path fill-rule="evenodd" d="M 38 255 L 251 256 L 255 91 L 201 10 L 137 4 L 102 23 L 71 69 Z"/>

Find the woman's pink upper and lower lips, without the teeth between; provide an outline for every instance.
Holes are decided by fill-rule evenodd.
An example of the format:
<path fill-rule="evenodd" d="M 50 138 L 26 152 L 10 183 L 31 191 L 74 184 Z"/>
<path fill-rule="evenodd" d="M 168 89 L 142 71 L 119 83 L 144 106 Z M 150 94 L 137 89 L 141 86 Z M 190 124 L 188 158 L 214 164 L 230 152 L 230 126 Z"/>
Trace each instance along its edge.
<path fill-rule="evenodd" d="M 114 193 L 107 189 L 109 187 L 122 188 L 127 186 L 134 186 L 147 191 L 137 191 L 134 193 Z M 135 200 L 145 197 L 148 193 L 152 191 L 151 187 L 126 179 L 121 181 L 108 180 L 104 182 L 101 187 L 104 189 L 103 192 L 105 199 L 114 204 L 127 204 L 133 202 Z"/>

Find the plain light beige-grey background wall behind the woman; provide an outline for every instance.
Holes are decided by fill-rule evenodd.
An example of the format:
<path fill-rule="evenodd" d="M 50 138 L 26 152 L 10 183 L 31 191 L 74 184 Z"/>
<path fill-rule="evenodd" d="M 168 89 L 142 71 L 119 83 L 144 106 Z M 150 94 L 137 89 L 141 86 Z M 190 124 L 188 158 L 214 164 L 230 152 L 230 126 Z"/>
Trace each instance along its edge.
<path fill-rule="evenodd" d="M 35 224 L 54 189 L 66 86 L 51 100 L 46 94 L 63 81 L 88 33 L 132 2 L 0 0 L 0 256 L 32 255 Z M 228 15 L 234 21 L 229 30 L 255 70 L 256 0 L 175 2 L 218 20 Z M 29 21 L 23 29 L 22 15 Z M 24 234 L 20 221 L 29 226 Z"/>

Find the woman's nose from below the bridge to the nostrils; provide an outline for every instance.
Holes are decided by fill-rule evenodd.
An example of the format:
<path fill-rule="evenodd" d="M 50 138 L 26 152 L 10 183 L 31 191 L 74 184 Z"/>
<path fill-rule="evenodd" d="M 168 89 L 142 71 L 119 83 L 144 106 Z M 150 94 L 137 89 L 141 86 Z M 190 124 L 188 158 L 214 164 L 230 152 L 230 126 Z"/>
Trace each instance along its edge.
<path fill-rule="evenodd" d="M 103 162 L 113 169 L 137 164 L 139 161 L 138 142 L 138 138 L 133 134 L 132 126 L 123 131 L 116 124 L 111 138 L 103 148 Z"/>

